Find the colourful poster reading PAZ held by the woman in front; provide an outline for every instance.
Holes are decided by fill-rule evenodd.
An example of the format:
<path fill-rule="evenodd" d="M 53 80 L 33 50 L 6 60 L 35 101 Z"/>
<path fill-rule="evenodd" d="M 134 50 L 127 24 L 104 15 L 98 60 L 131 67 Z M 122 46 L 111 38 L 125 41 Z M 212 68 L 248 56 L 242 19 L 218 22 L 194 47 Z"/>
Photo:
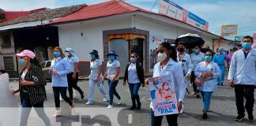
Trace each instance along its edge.
<path fill-rule="evenodd" d="M 179 113 L 171 75 L 149 79 L 149 88 L 155 116 Z"/>

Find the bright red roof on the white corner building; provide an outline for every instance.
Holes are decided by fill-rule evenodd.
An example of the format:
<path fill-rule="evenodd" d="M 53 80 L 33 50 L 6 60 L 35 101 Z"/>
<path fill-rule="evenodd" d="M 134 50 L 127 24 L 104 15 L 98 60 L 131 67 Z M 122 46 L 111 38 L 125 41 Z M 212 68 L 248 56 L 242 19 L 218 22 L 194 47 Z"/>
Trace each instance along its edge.
<path fill-rule="evenodd" d="M 107 2 L 85 6 L 78 10 L 76 13 L 72 13 L 66 17 L 59 18 L 58 20 L 54 20 L 51 22 L 51 24 L 70 22 L 75 20 L 86 20 L 96 17 L 107 17 L 121 13 L 130 13 L 137 10 L 152 13 L 148 10 L 132 6 L 126 2 L 122 2 L 121 0 L 109 0 Z"/>

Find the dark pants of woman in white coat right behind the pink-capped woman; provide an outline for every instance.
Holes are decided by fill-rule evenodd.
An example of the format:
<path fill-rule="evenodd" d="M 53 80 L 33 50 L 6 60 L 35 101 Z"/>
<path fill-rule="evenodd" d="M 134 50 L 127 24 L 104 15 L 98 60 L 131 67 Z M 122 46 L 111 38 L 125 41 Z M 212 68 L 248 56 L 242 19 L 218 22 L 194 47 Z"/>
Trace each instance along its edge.
<path fill-rule="evenodd" d="M 66 88 L 67 87 L 52 87 L 54 96 L 55 96 L 55 107 L 56 109 L 59 109 L 60 107 L 60 101 L 59 101 L 59 93 L 62 95 L 62 98 L 70 104 L 70 106 L 73 105 L 73 102 L 71 102 L 70 98 L 66 96 Z"/>

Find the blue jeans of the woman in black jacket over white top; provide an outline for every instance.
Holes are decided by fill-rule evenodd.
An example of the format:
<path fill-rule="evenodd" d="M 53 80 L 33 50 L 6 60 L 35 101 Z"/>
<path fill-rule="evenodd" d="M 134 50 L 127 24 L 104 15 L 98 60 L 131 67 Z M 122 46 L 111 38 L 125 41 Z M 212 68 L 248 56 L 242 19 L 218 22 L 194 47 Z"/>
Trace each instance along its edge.
<path fill-rule="evenodd" d="M 136 106 L 135 100 L 137 101 L 137 104 L 141 104 L 140 96 L 137 94 L 138 90 L 141 87 L 141 83 L 128 83 L 128 84 L 129 84 L 130 95 L 133 102 L 133 106 Z"/>

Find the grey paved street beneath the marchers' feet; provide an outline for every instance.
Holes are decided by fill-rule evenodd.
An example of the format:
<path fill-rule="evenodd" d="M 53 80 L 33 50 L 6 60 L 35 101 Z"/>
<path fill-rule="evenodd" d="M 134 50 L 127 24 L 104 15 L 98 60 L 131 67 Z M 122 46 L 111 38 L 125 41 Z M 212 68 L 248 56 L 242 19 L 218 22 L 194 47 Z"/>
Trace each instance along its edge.
<path fill-rule="evenodd" d="M 121 80 L 122 82 L 122 80 Z M 119 92 L 119 95 L 124 98 L 124 101 L 122 105 L 117 105 L 117 99 L 114 99 L 114 106 L 115 109 L 119 109 L 119 107 L 124 107 L 118 115 L 115 115 L 118 117 L 118 122 L 120 125 L 135 125 L 135 126 L 145 126 L 150 125 L 150 109 L 149 109 L 149 87 L 143 87 L 139 91 L 139 95 L 141 97 L 141 103 L 142 107 L 141 110 L 134 110 L 131 111 L 129 109 L 131 105 L 131 99 L 130 99 L 130 92 L 128 90 L 128 86 L 123 87 L 121 82 L 119 82 L 119 85 L 117 87 L 117 91 Z M 16 87 L 17 82 L 11 82 L 12 87 Z M 71 121 L 73 122 L 73 125 L 92 125 L 94 123 L 99 123 L 98 125 L 111 125 L 109 122 L 109 119 L 104 116 L 96 116 L 93 117 L 91 120 L 90 117 L 86 117 L 85 115 L 90 115 L 90 113 L 93 113 L 91 110 L 98 108 L 99 110 L 102 110 L 102 114 L 104 115 L 104 111 L 107 111 L 107 102 L 102 101 L 102 96 L 100 95 L 100 91 L 98 89 L 95 90 L 95 98 L 93 102 L 93 105 L 86 106 L 85 102 L 87 102 L 88 99 L 88 81 L 80 81 L 79 86 L 85 91 L 85 99 L 83 101 L 80 101 L 80 95 L 77 92 L 77 96 L 75 98 L 75 103 L 77 106 L 77 112 L 79 113 L 80 110 L 86 110 L 85 113 L 82 115 L 84 116 L 71 116 L 70 115 L 70 106 L 68 106 L 67 103 L 61 102 L 62 106 L 62 114 L 64 116 L 58 117 L 57 120 L 55 120 L 54 117 L 51 117 L 51 121 L 57 121 L 59 123 L 62 122 L 61 125 L 68 126 L 71 125 Z M 108 89 L 108 87 L 106 86 Z M 192 91 L 192 88 L 189 87 L 189 90 Z M 51 83 L 47 83 L 47 102 L 45 102 L 45 107 L 47 108 L 47 114 L 53 114 L 55 113 L 55 102 L 53 98 L 53 92 L 51 89 Z M 17 101 L 19 101 L 18 95 L 17 95 Z M 186 93 L 186 109 L 185 113 L 179 116 L 179 125 L 209 125 L 209 126 L 226 126 L 226 125 L 232 125 L 232 126 L 247 126 L 247 125 L 256 125 L 256 121 L 253 123 L 250 123 L 248 120 L 243 120 L 242 122 L 236 122 L 234 119 L 236 117 L 236 108 L 235 108 L 235 93 L 234 88 L 224 85 L 223 87 L 219 87 L 214 93 L 213 98 L 211 101 L 211 112 L 209 112 L 209 119 L 202 120 L 202 101 L 201 98 L 196 98 L 195 96 L 188 95 Z M 255 109 L 255 105 L 254 105 Z M 48 110 L 51 110 L 48 112 Z M 86 114 L 87 113 L 87 114 Z M 97 112 L 99 113 L 99 112 Z M 132 114 L 132 120 L 130 120 L 129 115 Z M 247 117 L 247 116 L 246 116 Z M 256 117 L 256 112 L 254 111 L 254 117 Z M 30 119 L 28 120 L 29 125 L 43 125 L 42 120 L 40 120 L 36 115 L 32 114 Z M 82 122 L 82 123 L 81 123 Z M 166 119 L 164 117 L 164 124 L 167 125 Z M 131 123 L 131 124 L 129 124 Z M 1 124 L 0 124 L 1 125 Z M 60 124 L 56 124 L 60 125 Z M 95 124 L 97 125 L 97 124 Z"/>

